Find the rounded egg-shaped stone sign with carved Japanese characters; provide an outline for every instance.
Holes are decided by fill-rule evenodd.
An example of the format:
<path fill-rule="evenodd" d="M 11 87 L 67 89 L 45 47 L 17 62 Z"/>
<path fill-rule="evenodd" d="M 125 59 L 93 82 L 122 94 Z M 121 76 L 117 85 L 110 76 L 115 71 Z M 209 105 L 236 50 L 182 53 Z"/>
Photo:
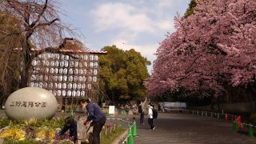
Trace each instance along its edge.
<path fill-rule="evenodd" d="M 6 115 L 13 120 L 53 118 L 58 109 L 54 94 L 37 87 L 26 87 L 6 100 Z"/>

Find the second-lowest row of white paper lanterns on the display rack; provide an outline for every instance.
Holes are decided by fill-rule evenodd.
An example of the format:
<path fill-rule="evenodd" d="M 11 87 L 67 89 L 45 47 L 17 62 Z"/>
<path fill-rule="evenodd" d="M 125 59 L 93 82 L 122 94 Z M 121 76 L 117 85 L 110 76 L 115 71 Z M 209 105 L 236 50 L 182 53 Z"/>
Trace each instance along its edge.
<path fill-rule="evenodd" d="M 40 87 L 44 89 L 59 89 L 59 90 L 85 90 L 91 89 L 91 84 L 85 83 L 47 83 L 47 82 L 30 82 L 31 87 Z"/>

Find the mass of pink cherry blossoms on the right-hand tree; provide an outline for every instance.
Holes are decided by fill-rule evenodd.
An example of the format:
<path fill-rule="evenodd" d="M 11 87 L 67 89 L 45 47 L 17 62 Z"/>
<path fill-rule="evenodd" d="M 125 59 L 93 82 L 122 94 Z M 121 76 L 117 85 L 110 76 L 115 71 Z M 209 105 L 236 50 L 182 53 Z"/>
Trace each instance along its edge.
<path fill-rule="evenodd" d="M 176 31 L 157 50 L 145 83 L 151 96 L 165 90 L 247 86 L 256 74 L 256 1 L 201 0 L 194 14 L 175 18 Z"/>

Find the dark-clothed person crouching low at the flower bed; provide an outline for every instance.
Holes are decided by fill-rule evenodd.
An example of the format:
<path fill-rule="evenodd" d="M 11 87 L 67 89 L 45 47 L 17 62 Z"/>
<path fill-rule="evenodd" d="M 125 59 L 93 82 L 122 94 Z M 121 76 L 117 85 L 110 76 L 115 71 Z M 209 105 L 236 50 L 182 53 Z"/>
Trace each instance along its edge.
<path fill-rule="evenodd" d="M 65 119 L 65 126 L 62 128 L 59 135 L 65 134 L 67 130 L 70 130 L 70 138 L 75 142 L 78 139 L 78 125 L 73 117 L 67 117 Z"/>

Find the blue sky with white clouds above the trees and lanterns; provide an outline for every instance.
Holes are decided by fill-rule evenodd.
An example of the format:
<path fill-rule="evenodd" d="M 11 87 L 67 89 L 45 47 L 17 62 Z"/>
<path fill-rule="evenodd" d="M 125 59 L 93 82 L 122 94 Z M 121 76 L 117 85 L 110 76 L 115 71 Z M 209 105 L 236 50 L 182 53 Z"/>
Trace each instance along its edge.
<path fill-rule="evenodd" d="M 62 22 L 76 30 L 90 50 L 115 45 L 134 49 L 151 62 L 167 32 L 174 32 L 174 16 L 183 15 L 190 0 L 61 0 Z"/>

